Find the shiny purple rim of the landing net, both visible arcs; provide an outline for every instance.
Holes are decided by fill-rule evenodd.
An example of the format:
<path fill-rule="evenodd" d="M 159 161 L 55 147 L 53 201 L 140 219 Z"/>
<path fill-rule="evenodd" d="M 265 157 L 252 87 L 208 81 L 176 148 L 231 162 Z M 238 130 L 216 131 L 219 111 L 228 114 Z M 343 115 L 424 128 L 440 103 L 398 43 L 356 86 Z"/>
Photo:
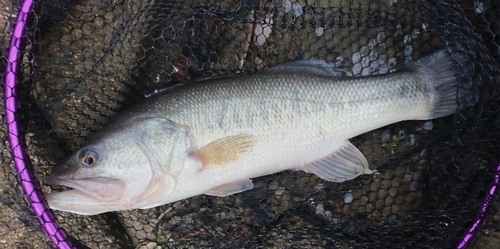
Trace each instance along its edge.
<path fill-rule="evenodd" d="M 5 121 L 7 124 L 9 145 L 13 154 L 14 165 L 19 175 L 20 184 L 30 202 L 31 209 L 52 242 L 58 248 L 69 249 L 75 247 L 71 246 L 66 232 L 57 223 L 54 214 L 43 197 L 43 192 L 40 190 L 38 182 L 35 180 L 34 175 L 28 168 L 30 161 L 26 157 L 26 148 L 24 147 L 24 143 L 21 142 L 22 139 L 20 139 L 23 134 L 20 132 L 19 123 L 16 119 L 18 109 L 16 85 L 21 65 L 21 59 L 19 58 L 21 58 L 21 51 L 24 50 L 23 34 L 26 31 L 27 20 L 30 16 L 33 5 L 34 0 L 23 1 L 21 8 L 19 9 L 10 40 L 7 64 L 5 67 Z M 478 211 L 477 220 L 471 225 L 465 236 L 459 241 L 456 247 L 457 249 L 463 249 L 470 244 L 480 224 L 484 221 L 486 211 L 493 201 L 499 182 L 500 164 L 497 166 L 497 172 L 495 174 L 492 187 L 484 198 L 481 208 Z"/>

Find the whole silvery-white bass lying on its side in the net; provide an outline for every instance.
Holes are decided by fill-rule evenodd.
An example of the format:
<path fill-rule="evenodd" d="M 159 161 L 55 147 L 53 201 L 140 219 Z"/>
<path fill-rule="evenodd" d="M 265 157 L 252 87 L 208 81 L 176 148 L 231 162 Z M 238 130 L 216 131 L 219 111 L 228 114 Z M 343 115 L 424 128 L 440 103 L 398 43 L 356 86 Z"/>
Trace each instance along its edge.
<path fill-rule="evenodd" d="M 150 96 L 56 166 L 46 182 L 69 189 L 46 200 L 55 210 L 96 215 L 228 196 L 285 170 L 341 183 L 376 171 L 350 138 L 458 111 L 446 50 L 390 74 L 338 72 L 322 60 L 294 61 Z"/>

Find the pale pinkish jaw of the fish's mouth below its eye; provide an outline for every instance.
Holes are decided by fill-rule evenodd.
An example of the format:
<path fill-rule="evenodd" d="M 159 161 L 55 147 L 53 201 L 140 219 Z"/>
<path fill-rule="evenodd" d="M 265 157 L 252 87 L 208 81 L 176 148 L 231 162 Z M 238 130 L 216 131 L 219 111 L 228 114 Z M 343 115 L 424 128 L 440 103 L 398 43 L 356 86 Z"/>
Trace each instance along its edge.
<path fill-rule="evenodd" d="M 88 177 L 82 179 L 64 179 L 57 176 L 50 176 L 47 183 L 52 186 L 63 186 L 72 188 L 61 193 L 72 195 L 82 195 L 86 198 L 93 198 L 99 201 L 120 200 L 124 184 L 118 179 L 109 177 Z"/>

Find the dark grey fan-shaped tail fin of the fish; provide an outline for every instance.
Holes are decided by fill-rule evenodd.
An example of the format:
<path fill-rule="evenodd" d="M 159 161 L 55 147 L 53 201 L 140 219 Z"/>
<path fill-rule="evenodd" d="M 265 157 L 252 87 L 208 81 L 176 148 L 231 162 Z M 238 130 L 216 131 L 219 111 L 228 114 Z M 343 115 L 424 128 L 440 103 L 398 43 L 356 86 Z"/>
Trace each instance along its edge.
<path fill-rule="evenodd" d="M 446 50 L 439 50 L 415 62 L 424 75 L 430 95 L 429 119 L 454 114 L 458 110 L 458 81 L 453 61 Z"/>

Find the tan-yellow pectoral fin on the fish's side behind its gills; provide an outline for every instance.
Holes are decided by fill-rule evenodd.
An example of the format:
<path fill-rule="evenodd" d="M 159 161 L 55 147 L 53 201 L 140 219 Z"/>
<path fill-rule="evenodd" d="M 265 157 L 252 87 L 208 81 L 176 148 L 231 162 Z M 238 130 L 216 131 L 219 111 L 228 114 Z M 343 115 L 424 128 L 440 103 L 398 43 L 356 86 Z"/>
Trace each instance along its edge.
<path fill-rule="evenodd" d="M 238 160 L 255 145 L 252 135 L 240 134 L 217 139 L 195 152 L 203 168 L 222 165 Z"/>

